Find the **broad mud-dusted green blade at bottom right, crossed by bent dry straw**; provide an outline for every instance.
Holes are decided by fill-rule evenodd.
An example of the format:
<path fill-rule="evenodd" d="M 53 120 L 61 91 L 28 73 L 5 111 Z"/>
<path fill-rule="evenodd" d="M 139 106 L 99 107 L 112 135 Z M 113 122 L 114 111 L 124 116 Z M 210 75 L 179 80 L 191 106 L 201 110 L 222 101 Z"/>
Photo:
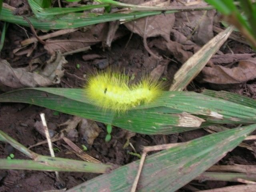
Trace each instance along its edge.
<path fill-rule="evenodd" d="M 175 192 L 223 158 L 256 129 L 256 124 L 210 134 L 146 158 L 138 184 L 138 192 Z M 67 192 L 102 189 L 128 192 L 138 171 L 139 161 L 98 176 Z"/>

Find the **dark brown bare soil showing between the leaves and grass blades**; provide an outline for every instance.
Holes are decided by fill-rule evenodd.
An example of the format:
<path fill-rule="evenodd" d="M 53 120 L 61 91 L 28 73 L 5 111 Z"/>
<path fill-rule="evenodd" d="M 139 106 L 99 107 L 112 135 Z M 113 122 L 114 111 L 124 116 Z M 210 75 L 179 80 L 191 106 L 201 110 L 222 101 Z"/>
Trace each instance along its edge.
<path fill-rule="evenodd" d="M 26 30 L 30 31 L 29 28 L 26 28 Z M 93 72 L 94 69 L 97 68 L 97 64 L 102 64 L 102 62 L 103 64 L 104 62 L 107 62 L 110 66 L 114 66 L 114 68 L 125 68 L 126 72 L 129 71 L 132 74 L 136 74 L 136 77 L 140 77 L 145 71 L 151 72 L 151 68 L 155 68 L 156 66 L 152 67 L 150 66 L 150 63 L 148 63 L 147 66 L 144 64 L 145 61 L 148 60 L 149 54 L 144 47 L 143 38 L 138 34 L 133 34 L 130 38 L 130 33 L 128 33 L 128 30 L 124 26 L 122 27 L 122 30 L 126 31 L 126 35 L 112 42 L 111 49 L 103 51 L 102 44 L 92 46 L 92 50 L 88 52 L 88 54 L 100 54 L 102 58 L 97 61 L 95 61 L 95 59 L 84 60 L 84 54 L 79 53 L 67 56 L 66 60 L 68 61 L 68 64 L 65 64 L 64 66 L 65 74 L 61 78 L 60 84 L 55 85 L 55 87 L 83 87 L 86 83 L 84 80 L 86 79 L 85 74 Z M 49 57 L 41 44 L 38 44 L 34 53 L 30 57 L 14 55 L 12 53 L 13 49 L 16 48 L 18 42 L 24 39 L 26 39 L 25 31 L 19 26 L 10 24 L 4 49 L 1 53 L 1 58 L 10 62 L 13 68 L 28 66 L 28 62 L 38 55 L 42 55 L 41 57 L 44 57 L 45 60 Z M 127 42 L 128 46 L 126 46 Z M 229 49 L 232 49 L 233 52 L 237 53 L 252 53 L 247 45 L 233 40 L 228 40 L 225 46 L 226 47 L 222 47 L 222 51 L 224 53 L 229 53 Z M 77 67 L 77 64 L 80 65 L 79 68 Z M 181 64 L 182 62 L 177 60 L 175 57 L 170 58 L 161 77 L 167 78 L 168 81 L 171 81 L 173 74 Z M 251 80 L 244 84 L 236 84 L 235 86 L 222 86 L 193 81 L 192 84 L 188 86 L 188 90 L 193 91 L 198 91 L 203 88 L 228 90 L 250 96 L 251 98 L 254 98 L 256 95 L 255 80 Z M 59 132 L 64 127 L 59 126 L 60 124 L 63 124 L 68 119 L 72 119 L 71 115 L 56 113 L 53 110 L 29 104 L 0 103 L 0 130 L 4 131 L 26 147 L 41 142 L 44 140 L 44 137 L 34 126 L 37 121 L 40 121 L 39 114 L 41 112 L 44 112 L 46 116 L 49 129 L 56 132 Z M 124 132 L 124 130 L 114 127 L 112 131 L 112 140 L 110 142 L 105 142 L 106 128 L 101 123 L 97 124 L 103 131 L 100 132 L 99 136 L 94 140 L 92 146 L 88 147 L 88 154 L 90 156 L 100 160 L 101 162 L 112 163 L 120 166 L 138 159 L 136 156 L 128 154 L 128 152 L 132 151 L 130 146 L 125 149 L 123 148 L 126 143 L 126 132 Z M 184 142 L 206 134 L 208 133 L 201 129 L 167 136 L 136 134 L 130 138 L 130 142 L 134 145 L 136 151 L 140 153 L 141 146 Z M 74 143 L 77 146 L 86 144 L 80 135 L 74 139 Z M 80 160 L 80 158 L 65 148 L 64 144 L 65 143 L 62 140 L 54 143 L 54 147 L 59 149 L 56 152 L 56 156 Z M 49 155 L 47 144 L 36 146 L 31 149 L 38 154 Z M 14 154 L 17 159 L 28 159 L 24 154 L 15 150 L 9 144 L 0 142 L 0 158 L 6 158 L 11 153 Z M 251 151 L 237 147 L 235 150 L 228 153 L 227 156 L 225 156 L 218 164 L 256 165 L 256 158 Z M 0 170 L 0 192 L 38 192 L 61 188 L 72 188 L 73 186 L 76 186 L 86 180 L 90 180 L 97 175 L 98 174 L 91 173 L 61 172 L 60 177 L 63 180 L 63 183 L 60 183 L 56 182 L 54 172 Z M 193 181 L 190 184 L 203 190 L 229 186 L 234 183 Z M 178 191 L 190 192 L 192 190 L 188 187 L 182 188 Z"/>

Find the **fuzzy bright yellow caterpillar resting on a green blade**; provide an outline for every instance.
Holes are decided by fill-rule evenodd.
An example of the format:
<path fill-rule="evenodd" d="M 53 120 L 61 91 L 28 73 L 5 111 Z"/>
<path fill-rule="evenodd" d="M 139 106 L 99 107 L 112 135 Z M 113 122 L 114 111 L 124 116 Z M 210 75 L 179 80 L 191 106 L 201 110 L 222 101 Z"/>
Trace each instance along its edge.
<path fill-rule="evenodd" d="M 161 94 L 162 88 L 161 83 L 147 77 L 130 85 L 128 75 L 108 71 L 91 76 L 85 90 L 97 106 L 122 113 L 152 102 Z"/>

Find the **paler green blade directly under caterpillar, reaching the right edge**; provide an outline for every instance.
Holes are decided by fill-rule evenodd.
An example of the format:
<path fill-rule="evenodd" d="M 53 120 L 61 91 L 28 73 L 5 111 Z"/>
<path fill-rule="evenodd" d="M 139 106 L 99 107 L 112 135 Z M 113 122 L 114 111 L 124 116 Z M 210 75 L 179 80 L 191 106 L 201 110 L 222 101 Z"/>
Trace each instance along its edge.
<path fill-rule="evenodd" d="M 90 103 L 84 96 L 83 89 L 63 89 L 63 88 L 34 88 L 48 93 L 64 96 L 72 100 Z M 248 98 L 248 100 L 252 100 Z M 256 122 L 256 108 L 236 104 L 234 102 L 212 98 L 195 92 L 164 92 L 158 100 L 150 104 L 139 106 L 136 109 L 148 109 L 155 107 L 170 108 L 168 113 L 188 112 L 196 115 L 212 116 L 214 118 L 221 116 L 228 120 L 241 120 L 241 122 Z M 136 110 L 132 110 L 132 113 Z M 160 112 L 160 111 L 154 111 Z M 236 118 L 236 119 L 233 119 Z M 221 118 L 220 118 L 221 119 Z M 239 121 L 238 121 L 239 122 Z"/>

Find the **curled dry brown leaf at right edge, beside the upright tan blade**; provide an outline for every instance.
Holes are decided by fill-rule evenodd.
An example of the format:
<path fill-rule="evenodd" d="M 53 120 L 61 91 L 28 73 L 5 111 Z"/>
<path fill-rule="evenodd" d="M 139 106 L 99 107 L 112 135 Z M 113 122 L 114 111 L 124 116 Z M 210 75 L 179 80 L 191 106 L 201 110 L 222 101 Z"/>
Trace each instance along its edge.
<path fill-rule="evenodd" d="M 240 61 L 232 68 L 216 65 L 204 67 L 201 82 L 213 84 L 239 84 L 256 78 L 256 58 Z"/>

